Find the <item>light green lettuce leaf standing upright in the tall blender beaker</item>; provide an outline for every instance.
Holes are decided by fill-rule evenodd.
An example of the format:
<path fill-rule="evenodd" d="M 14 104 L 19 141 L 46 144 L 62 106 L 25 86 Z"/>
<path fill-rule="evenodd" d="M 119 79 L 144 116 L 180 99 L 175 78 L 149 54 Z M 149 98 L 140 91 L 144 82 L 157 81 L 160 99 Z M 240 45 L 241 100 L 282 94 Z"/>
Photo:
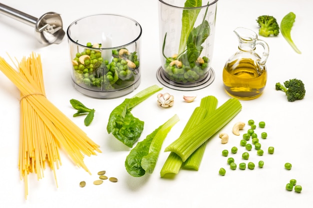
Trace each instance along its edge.
<path fill-rule="evenodd" d="M 181 33 L 179 41 L 178 54 L 182 53 L 186 48 L 187 37 L 193 28 L 194 22 L 200 12 L 200 9 L 192 9 L 192 7 L 202 6 L 202 0 L 186 0 L 184 3 L 185 8 L 182 10 L 181 17 Z"/>

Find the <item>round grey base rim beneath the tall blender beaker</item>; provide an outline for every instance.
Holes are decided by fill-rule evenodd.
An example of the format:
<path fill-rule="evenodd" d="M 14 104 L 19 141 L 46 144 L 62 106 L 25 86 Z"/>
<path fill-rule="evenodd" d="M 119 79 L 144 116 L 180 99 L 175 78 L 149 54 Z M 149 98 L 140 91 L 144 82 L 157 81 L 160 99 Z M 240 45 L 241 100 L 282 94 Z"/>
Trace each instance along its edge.
<path fill-rule="evenodd" d="M 177 82 L 174 82 L 174 81 L 168 79 L 163 73 L 162 66 L 160 66 L 157 69 L 156 78 L 162 85 L 164 85 L 165 87 L 168 87 L 170 89 L 181 90 L 181 91 L 192 91 L 192 90 L 202 89 L 202 88 L 210 85 L 214 81 L 215 73 L 214 73 L 214 70 L 210 67 L 208 70 L 207 76 L 198 82 L 177 83 Z"/>

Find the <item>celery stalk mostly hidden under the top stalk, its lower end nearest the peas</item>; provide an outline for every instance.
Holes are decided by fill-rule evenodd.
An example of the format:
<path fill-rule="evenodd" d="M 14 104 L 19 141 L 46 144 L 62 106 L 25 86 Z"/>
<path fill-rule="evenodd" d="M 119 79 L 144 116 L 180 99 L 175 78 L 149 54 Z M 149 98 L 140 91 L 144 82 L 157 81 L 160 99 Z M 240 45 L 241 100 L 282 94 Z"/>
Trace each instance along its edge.
<path fill-rule="evenodd" d="M 217 99 L 202 99 L 200 102 L 200 107 L 202 106 L 207 110 L 205 115 L 205 118 L 207 118 L 215 111 L 217 107 Z M 193 169 L 195 171 L 199 170 L 206 143 L 207 140 L 188 157 L 188 159 L 182 164 L 182 168 Z"/>

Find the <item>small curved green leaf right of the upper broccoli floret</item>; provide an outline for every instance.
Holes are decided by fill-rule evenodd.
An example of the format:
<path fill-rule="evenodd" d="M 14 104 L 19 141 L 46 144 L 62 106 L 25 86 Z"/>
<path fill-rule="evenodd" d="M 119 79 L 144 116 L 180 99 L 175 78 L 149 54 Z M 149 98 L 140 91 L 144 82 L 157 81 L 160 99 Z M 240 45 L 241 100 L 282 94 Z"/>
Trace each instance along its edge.
<path fill-rule="evenodd" d="M 291 28 L 293 26 L 293 22 L 295 19 L 295 14 L 293 12 L 289 12 L 286 14 L 280 22 L 280 32 L 282 36 L 286 39 L 286 41 L 291 45 L 293 50 L 299 54 L 301 54 L 301 51 L 295 46 L 293 43 L 293 40 L 291 39 Z"/>

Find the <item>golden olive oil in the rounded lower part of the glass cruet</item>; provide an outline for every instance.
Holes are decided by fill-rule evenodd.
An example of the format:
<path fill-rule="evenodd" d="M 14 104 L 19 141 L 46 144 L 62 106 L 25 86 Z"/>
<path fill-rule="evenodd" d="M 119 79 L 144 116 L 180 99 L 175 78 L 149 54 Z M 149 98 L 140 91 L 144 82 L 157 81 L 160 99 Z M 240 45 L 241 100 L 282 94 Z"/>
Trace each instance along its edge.
<path fill-rule="evenodd" d="M 261 95 L 267 80 L 265 65 L 250 58 L 227 62 L 223 69 L 223 83 L 227 94 L 242 100 L 251 100 Z"/>

